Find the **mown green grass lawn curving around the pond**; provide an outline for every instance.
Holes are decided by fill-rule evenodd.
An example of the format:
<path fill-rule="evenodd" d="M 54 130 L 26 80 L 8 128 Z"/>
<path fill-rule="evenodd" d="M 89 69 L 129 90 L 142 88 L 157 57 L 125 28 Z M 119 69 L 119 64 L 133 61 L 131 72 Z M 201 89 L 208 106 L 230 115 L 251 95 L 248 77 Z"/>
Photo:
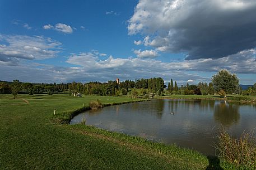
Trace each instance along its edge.
<path fill-rule="evenodd" d="M 0 169 L 207 169 L 206 156 L 175 145 L 108 132 L 86 125 L 54 123 L 56 115 L 130 98 L 0 95 Z M 221 161 L 223 169 L 235 169 Z M 219 167 L 217 164 L 216 167 Z M 215 168 L 216 169 L 216 168 Z"/>

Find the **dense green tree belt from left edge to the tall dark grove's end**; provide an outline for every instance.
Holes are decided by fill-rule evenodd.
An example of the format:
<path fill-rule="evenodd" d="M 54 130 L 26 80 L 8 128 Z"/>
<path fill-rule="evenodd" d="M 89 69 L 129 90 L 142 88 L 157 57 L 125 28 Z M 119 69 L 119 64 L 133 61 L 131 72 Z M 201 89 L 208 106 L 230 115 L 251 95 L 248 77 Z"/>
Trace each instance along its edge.
<path fill-rule="evenodd" d="M 82 84 L 81 82 L 61 83 L 61 84 L 47 84 L 47 83 L 30 83 L 20 82 L 13 80 L 13 82 L 0 81 L 0 93 L 10 94 L 13 93 L 13 89 L 20 94 L 53 94 L 53 93 L 81 93 L 85 95 L 127 95 L 128 93 L 137 95 L 137 89 L 148 89 L 150 93 L 162 94 L 165 85 L 164 80 L 161 77 L 154 77 L 151 79 L 138 79 L 136 81 L 125 80 L 120 82 L 108 81 L 108 82 L 88 82 Z M 146 92 L 145 92 L 146 93 Z"/>

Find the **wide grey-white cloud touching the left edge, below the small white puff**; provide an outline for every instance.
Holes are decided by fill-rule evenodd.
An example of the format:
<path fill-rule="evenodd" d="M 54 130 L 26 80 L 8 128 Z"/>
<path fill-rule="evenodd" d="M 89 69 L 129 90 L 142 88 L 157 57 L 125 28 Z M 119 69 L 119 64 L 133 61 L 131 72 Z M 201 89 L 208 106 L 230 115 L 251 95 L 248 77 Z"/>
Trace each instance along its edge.
<path fill-rule="evenodd" d="M 6 42 L 8 44 L 4 44 Z M 14 65 L 20 59 L 52 58 L 59 52 L 60 45 L 60 42 L 42 36 L 0 35 L 0 61 Z"/>

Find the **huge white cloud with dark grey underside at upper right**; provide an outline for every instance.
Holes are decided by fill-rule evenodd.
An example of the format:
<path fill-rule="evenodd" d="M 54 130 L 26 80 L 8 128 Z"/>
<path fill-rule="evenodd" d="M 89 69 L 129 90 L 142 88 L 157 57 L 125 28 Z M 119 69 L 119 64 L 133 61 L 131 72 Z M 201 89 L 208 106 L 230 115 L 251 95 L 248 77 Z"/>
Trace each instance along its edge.
<path fill-rule="evenodd" d="M 144 35 L 144 45 L 158 51 L 186 53 L 187 60 L 217 59 L 256 47 L 255 16 L 252 0 L 141 0 L 128 33 Z"/>

